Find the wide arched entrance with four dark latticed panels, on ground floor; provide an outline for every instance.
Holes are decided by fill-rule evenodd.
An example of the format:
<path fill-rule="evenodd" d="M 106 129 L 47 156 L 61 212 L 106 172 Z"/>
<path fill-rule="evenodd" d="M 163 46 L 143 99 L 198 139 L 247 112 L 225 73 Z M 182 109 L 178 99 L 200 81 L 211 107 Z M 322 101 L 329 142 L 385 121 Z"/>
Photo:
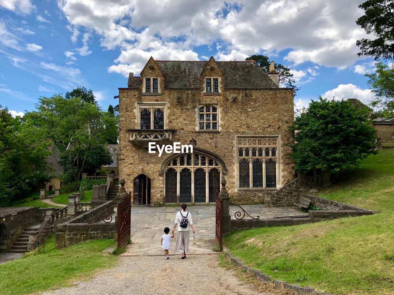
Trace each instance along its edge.
<path fill-rule="evenodd" d="M 222 165 L 205 153 L 181 154 L 165 162 L 165 203 L 213 203 Z"/>

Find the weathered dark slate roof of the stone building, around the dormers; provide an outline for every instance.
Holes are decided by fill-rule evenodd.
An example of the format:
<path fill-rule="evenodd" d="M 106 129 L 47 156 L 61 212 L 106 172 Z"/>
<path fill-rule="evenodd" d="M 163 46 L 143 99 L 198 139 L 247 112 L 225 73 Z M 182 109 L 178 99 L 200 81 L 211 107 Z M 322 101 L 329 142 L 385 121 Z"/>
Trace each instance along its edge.
<path fill-rule="evenodd" d="M 199 89 L 199 77 L 208 61 L 156 61 L 164 76 L 166 89 Z M 253 61 L 217 61 L 225 87 L 232 89 L 278 88 L 260 66 Z M 138 88 L 139 77 L 132 87 Z"/>

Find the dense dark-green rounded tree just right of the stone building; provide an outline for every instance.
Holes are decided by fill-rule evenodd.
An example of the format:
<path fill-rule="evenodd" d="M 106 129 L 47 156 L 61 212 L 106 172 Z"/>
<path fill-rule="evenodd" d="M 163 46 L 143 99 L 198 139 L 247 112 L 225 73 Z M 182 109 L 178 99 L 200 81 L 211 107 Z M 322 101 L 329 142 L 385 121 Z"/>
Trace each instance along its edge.
<path fill-rule="evenodd" d="M 292 145 L 297 171 L 323 168 L 338 172 L 376 153 L 376 131 L 366 108 L 355 109 L 348 101 L 319 98 L 294 121 Z"/>

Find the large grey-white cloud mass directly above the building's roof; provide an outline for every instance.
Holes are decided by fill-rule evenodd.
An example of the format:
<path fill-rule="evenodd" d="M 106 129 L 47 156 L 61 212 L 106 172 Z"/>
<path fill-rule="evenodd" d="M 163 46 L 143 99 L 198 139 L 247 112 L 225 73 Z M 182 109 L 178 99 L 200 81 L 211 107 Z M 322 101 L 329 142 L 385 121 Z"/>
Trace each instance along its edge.
<path fill-rule="evenodd" d="M 286 60 L 294 65 L 310 61 L 346 68 L 360 59 L 355 42 L 366 36 L 355 24 L 363 13 L 357 5 L 339 0 L 241 0 L 237 5 L 223 0 L 162 0 L 151 9 L 142 0 L 120 0 L 110 6 L 102 0 L 58 2 L 72 40 L 80 31 L 95 31 L 105 49 L 121 50 L 108 70 L 124 75 L 126 69 L 138 74 L 151 55 L 179 60 L 188 52 L 187 57 L 198 59 L 192 48 L 200 45 L 216 48 L 212 54 L 218 60 L 243 60 L 255 53 L 272 56 L 290 48 Z M 125 55 L 136 58 L 122 61 Z M 312 68 L 307 72 L 316 74 Z"/>

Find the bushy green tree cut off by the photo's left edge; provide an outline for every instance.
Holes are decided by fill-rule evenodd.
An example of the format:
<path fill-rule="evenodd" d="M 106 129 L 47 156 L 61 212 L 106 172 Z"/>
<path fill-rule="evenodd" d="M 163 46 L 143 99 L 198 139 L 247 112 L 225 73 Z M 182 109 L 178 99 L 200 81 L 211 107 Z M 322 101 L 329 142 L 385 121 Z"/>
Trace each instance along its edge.
<path fill-rule="evenodd" d="M 49 180 L 45 132 L 0 105 L 0 206 L 9 206 Z"/>

